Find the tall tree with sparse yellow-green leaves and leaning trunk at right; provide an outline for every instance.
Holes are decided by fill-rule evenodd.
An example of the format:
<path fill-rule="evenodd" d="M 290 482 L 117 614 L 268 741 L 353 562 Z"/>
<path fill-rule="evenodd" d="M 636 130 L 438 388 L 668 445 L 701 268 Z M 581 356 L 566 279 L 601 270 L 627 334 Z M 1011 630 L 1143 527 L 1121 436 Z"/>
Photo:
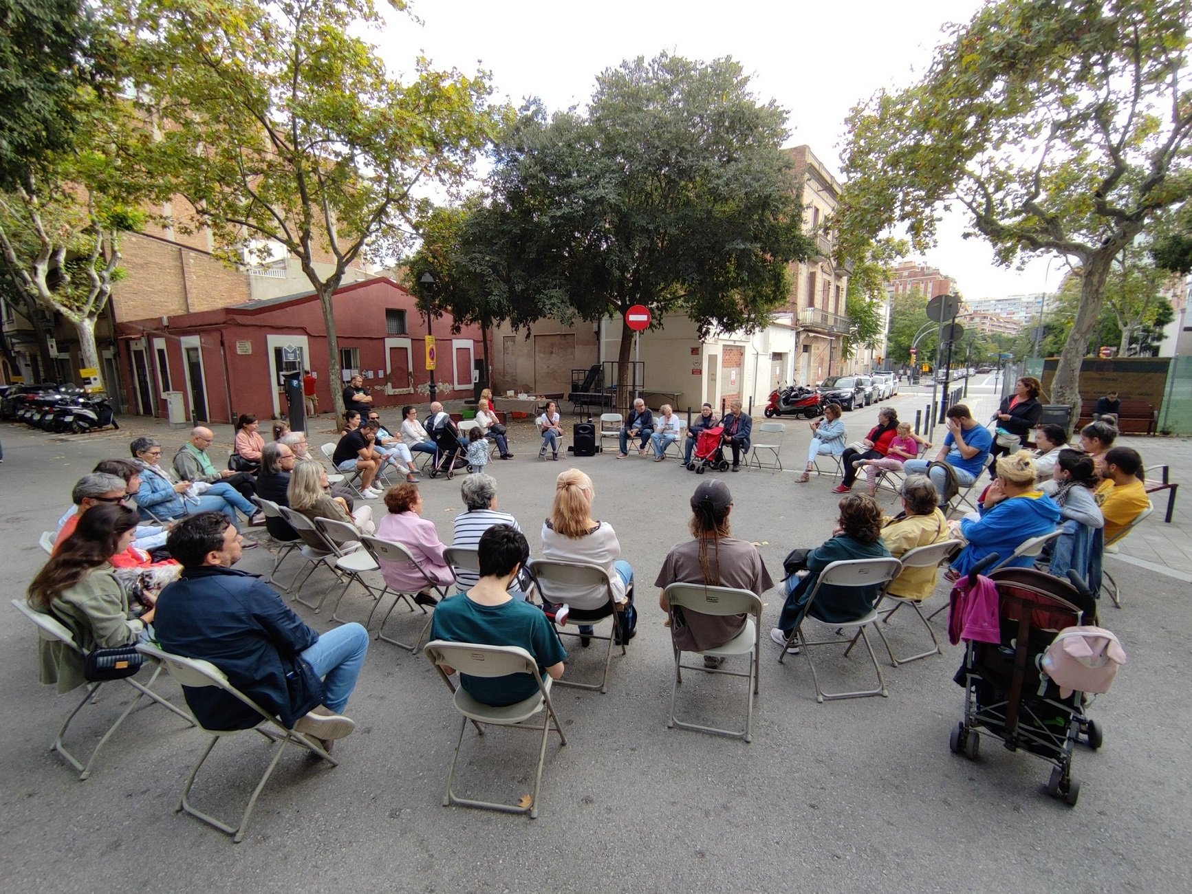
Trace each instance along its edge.
<path fill-rule="evenodd" d="M 1004 263 L 1074 259 L 1085 292 L 1055 385 L 1074 404 L 1113 256 L 1192 193 L 1190 21 L 1192 0 L 983 6 L 920 82 L 850 114 L 842 231 L 901 224 L 921 250 L 960 206 Z"/>

